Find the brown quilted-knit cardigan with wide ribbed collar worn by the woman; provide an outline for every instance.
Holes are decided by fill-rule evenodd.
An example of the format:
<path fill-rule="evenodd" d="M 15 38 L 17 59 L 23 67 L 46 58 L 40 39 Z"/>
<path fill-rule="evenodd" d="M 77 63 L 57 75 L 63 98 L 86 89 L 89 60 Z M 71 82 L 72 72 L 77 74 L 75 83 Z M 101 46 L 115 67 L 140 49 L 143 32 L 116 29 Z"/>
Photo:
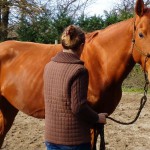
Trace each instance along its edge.
<path fill-rule="evenodd" d="M 88 71 L 75 55 L 59 52 L 44 70 L 45 140 L 55 144 L 90 142 L 98 114 L 87 104 Z"/>

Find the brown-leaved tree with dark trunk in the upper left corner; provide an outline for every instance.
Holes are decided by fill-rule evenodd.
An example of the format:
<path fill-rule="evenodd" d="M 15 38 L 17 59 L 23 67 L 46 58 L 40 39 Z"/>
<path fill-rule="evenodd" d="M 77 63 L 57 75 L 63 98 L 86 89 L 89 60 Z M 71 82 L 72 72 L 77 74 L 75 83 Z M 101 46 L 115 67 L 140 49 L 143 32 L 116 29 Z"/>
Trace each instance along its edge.
<path fill-rule="evenodd" d="M 40 11 L 34 0 L 0 0 L 0 41 L 7 39 L 12 25 L 22 14 L 32 15 Z"/>

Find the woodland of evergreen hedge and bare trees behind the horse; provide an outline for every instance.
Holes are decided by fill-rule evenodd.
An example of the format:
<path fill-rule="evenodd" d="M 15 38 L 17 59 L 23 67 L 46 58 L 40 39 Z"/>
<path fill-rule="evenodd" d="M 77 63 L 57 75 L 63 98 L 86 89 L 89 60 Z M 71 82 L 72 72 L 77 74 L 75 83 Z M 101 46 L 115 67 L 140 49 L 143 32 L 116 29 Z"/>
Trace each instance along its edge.
<path fill-rule="evenodd" d="M 96 0 L 0 0 L 0 41 L 54 43 L 70 24 L 86 32 L 104 29 L 134 15 L 134 0 L 118 0 L 103 15 L 85 13 Z M 150 0 L 145 0 L 145 5 Z M 94 9 L 94 8 L 93 8 Z"/>

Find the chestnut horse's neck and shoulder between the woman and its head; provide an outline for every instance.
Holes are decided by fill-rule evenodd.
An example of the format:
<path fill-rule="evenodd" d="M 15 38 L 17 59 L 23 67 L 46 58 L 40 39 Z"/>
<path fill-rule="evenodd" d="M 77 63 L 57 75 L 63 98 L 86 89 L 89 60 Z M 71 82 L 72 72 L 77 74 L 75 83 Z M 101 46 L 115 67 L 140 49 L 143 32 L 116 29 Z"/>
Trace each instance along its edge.
<path fill-rule="evenodd" d="M 83 59 L 90 74 L 89 88 L 96 87 L 95 84 L 99 84 L 98 90 L 121 85 L 135 64 L 132 36 L 133 19 L 129 19 L 99 31 L 86 44 Z"/>

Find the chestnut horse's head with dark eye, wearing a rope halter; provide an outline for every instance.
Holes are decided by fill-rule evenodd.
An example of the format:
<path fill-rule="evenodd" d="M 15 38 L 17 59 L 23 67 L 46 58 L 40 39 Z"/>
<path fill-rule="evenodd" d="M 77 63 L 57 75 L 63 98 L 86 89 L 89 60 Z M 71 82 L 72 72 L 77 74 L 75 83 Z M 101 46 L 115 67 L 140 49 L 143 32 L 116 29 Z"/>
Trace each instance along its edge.
<path fill-rule="evenodd" d="M 137 0 L 136 16 L 133 28 L 133 57 L 148 73 L 150 80 L 150 8 L 144 6 L 143 0 Z"/>

